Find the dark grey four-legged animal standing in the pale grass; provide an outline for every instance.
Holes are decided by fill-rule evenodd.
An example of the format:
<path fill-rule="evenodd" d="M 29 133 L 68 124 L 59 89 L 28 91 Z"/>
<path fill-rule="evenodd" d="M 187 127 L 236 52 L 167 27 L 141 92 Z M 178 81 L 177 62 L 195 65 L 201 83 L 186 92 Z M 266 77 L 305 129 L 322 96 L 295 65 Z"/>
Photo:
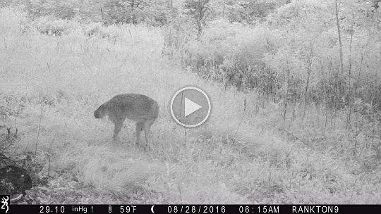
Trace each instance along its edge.
<path fill-rule="evenodd" d="M 136 144 L 140 144 L 140 132 L 144 130 L 147 144 L 150 142 L 150 127 L 155 122 L 159 113 L 159 105 L 153 99 L 142 94 L 119 94 L 103 103 L 94 112 L 95 118 L 103 118 L 109 115 L 114 122 L 114 141 L 119 141 L 118 134 L 121 131 L 126 118 L 136 122 Z"/>

